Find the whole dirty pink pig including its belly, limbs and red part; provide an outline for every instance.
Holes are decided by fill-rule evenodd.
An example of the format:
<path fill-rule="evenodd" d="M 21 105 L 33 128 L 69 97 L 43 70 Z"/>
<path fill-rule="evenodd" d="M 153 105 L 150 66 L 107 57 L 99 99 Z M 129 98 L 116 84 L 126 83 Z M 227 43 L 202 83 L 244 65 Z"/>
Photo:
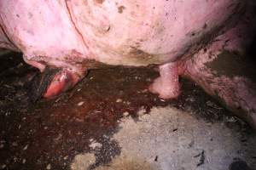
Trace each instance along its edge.
<path fill-rule="evenodd" d="M 254 9 L 253 0 L 0 0 L 0 45 L 42 72 L 37 96 L 105 65 L 157 65 L 152 93 L 177 98 L 188 77 L 256 127 L 255 82 L 221 65 L 252 44 Z"/>

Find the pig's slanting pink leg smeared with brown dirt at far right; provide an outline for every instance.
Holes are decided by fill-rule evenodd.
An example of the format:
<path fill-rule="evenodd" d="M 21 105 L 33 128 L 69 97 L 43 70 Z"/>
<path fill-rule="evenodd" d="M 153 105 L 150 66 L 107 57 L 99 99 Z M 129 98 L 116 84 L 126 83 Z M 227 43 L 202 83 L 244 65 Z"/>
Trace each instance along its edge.
<path fill-rule="evenodd" d="M 254 7 L 250 6 L 252 11 Z M 255 63 L 247 61 L 247 48 L 255 36 L 255 18 L 248 8 L 235 28 L 185 61 L 184 76 L 256 128 L 256 70 Z"/>

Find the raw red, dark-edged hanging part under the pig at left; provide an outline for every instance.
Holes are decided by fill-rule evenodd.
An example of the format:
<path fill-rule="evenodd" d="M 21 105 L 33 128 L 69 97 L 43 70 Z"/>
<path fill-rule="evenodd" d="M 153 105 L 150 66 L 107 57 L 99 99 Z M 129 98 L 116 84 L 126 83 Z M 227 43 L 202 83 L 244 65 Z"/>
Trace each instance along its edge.
<path fill-rule="evenodd" d="M 44 98 L 53 98 L 79 82 L 80 77 L 73 71 L 60 68 L 46 68 L 38 77 L 32 80 L 32 95 L 33 102 Z"/>

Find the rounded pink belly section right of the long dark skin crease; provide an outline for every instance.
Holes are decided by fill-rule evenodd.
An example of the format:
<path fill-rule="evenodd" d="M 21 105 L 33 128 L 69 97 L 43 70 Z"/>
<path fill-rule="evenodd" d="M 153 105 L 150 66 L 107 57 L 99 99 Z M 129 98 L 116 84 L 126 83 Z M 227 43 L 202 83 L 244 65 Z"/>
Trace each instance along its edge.
<path fill-rule="evenodd" d="M 193 53 L 241 12 L 235 0 L 67 1 L 93 58 L 109 65 L 150 65 Z"/>

